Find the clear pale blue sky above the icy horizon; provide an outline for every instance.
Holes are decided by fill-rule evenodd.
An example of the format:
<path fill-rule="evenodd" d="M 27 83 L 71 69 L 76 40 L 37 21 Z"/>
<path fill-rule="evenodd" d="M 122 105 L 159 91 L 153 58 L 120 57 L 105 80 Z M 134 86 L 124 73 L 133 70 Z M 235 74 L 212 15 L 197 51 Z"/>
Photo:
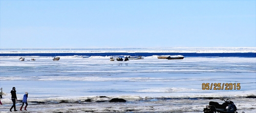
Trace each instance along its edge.
<path fill-rule="evenodd" d="M 0 1 L 0 48 L 256 47 L 256 1 Z"/>

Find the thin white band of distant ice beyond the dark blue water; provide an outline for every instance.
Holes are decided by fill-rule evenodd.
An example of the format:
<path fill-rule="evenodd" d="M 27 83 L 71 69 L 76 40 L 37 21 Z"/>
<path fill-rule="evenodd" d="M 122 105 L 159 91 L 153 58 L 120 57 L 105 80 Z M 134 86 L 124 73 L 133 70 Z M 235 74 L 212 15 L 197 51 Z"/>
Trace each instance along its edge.
<path fill-rule="evenodd" d="M 175 52 L 175 53 L 245 53 L 256 47 L 172 47 L 172 48 L 106 48 L 106 49 L 0 49 L 0 53 L 104 53 L 104 52 Z"/>

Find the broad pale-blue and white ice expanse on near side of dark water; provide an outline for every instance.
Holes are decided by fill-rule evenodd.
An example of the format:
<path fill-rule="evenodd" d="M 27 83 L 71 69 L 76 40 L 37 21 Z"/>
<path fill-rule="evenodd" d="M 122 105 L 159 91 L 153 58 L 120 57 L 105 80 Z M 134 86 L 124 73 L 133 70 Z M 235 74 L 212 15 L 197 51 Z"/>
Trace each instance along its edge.
<path fill-rule="evenodd" d="M 148 56 L 127 62 L 111 62 L 108 56 L 18 58 L 0 58 L 4 92 L 0 112 L 11 107 L 12 87 L 19 101 L 29 92 L 26 112 L 203 112 L 209 101 L 223 103 L 220 98 L 229 98 L 239 112 L 256 112 L 255 58 Z M 240 83 L 241 89 L 203 90 L 203 83 Z M 127 101 L 111 103 L 112 98 Z"/>

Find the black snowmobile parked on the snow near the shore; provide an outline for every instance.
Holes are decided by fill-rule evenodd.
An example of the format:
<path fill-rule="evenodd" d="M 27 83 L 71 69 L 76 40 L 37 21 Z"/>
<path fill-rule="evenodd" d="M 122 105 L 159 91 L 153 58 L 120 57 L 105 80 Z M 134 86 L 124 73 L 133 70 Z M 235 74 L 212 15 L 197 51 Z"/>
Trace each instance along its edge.
<path fill-rule="evenodd" d="M 224 100 L 224 99 L 221 99 Z M 210 101 L 209 105 L 204 108 L 204 113 L 237 113 L 237 107 L 234 105 L 232 101 L 224 100 L 223 104 L 219 104 L 218 102 Z"/>

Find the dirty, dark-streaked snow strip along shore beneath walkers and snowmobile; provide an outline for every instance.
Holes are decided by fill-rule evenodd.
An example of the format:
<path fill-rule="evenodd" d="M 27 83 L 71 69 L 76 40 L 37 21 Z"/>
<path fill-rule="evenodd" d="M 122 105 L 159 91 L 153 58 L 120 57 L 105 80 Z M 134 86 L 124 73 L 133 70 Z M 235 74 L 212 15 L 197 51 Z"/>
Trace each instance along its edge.
<path fill-rule="evenodd" d="M 65 98 L 64 98 L 65 99 Z M 96 97 L 95 97 L 96 99 Z M 103 99 L 102 99 L 103 100 Z M 105 99 L 107 100 L 107 99 Z M 255 112 L 255 99 L 233 98 L 231 99 L 241 113 Z M 54 101 L 54 100 L 53 100 Z M 209 104 L 209 101 L 223 103 L 220 99 L 143 99 L 129 100 L 127 102 L 74 102 L 65 100 L 68 103 L 54 103 L 52 101 L 42 103 L 28 104 L 28 111 L 25 112 L 203 112 L 203 108 Z M 19 108 L 21 103 L 16 106 Z M 0 106 L 0 112 L 10 112 L 11 103 Z M 23 107 L 24 109 L 24 107 Z M 21 111 L 17 111 L 21 112 Z M 24 112 L 24 110 L 23 110 Z"/>

